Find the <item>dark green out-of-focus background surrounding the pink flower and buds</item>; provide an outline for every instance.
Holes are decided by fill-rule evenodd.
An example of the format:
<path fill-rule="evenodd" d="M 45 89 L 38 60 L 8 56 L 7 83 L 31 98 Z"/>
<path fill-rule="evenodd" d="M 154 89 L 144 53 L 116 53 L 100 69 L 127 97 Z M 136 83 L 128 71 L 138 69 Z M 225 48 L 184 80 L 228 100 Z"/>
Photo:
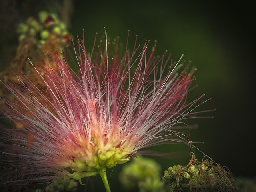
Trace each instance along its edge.
<path fill-rule="evenodd" d="M 178 60 L 191 60 L 198 68 L 198 88 L 190 99 L 206 94 L 213 98 L 200 109 L 215 109 L 203 114 L 214 119 L 197 119 L 187 122 L 198 124 L 192 130 L 196 146 L 222 166 L 230 168 L 235 176 L 255 176 L 255 14 L 253 5 L 246 2 L 216 1 L 82 1 L 72 2 L 70 32 L 76 37 L 85 30 L 86 46 L 90 50 L 95 32 L 109 38 L 120 36 L 126 43 L 130 30 L 132 46 L 136 34 L 140 44 L 145 40 L 157 40 L 157 54 L 165 50 Z M 36 15 L 40 10 L 54 11 L 63 1 L 1 0 L 0 4 L 0 70 L 4 70 L 15 55 L 18 44 L 16 25 Z M 161 146 L 154 150 L 170 152 L 180 146 Z M 204 156 L 198 150 L 199 160 Z M 154 157 L 163 170 L 174 164 L 185 165 L 189 151 L 182 157 Z M 110 186 L 118 191 L 117 175 L 121 166 L 112 170 Z M 95 178 L 95 189 L 101 187 L 100 178 Z M 100 184 L 98 184 L 100 183 Z"/>

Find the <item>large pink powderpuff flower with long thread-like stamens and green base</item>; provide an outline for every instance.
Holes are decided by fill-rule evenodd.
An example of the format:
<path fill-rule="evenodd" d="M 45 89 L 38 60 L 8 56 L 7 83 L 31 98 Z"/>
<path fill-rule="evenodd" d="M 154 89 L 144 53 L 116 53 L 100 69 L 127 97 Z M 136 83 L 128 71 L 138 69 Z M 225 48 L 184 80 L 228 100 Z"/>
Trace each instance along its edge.
<path fill-rule="evenodd" d="M 122 56 L 115 39 L 111 57 L 110 44 L 104 50 L 101 42 L 94 59 L 83 42 L 78 41 L 77 72 L 65 57 L 50 54 L 46 62 L 56 67 L 42 67 L 44 75 L 36 69 L 45 88 L 28 78 L 22 92 L 15 84 L 5 85 L 19 104 L 6 100 L 3 110 L 24 129 L 2 130 L 9 152 L 0 153 L 12 157 L 8 165 L 13 165 L 4 172 L 18 170 L 3 184 L 96 174 L 105 184 L 106 168 L 129 161 L 142 148 L 166 142 L 191 145 L 174 129 L 181 120 L 194 118 L 192 110 L 202 104 L 197 103 L 204 95 L 187 103 L 195 68 L 183 67 L 182 58 L 177 63 L 170 55 L 165 58 L 166 52 L 154 57 L 156 44 L 148 54 L 149 41 L 142 47 L 135 42 Z"/>

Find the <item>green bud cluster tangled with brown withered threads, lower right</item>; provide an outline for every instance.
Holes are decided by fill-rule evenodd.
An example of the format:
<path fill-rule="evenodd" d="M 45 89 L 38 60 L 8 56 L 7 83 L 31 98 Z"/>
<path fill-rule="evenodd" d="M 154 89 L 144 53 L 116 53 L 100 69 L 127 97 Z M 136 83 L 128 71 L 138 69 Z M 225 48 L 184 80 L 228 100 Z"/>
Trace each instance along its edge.
<path fill-rule="evenodd" d="M 170 191 L 236 191 L 232 174 L 211 160 L 198 162 L 195 156 L 186 166 L 174 165 L 164 171 L 162 180 L 170 185 Z"/>

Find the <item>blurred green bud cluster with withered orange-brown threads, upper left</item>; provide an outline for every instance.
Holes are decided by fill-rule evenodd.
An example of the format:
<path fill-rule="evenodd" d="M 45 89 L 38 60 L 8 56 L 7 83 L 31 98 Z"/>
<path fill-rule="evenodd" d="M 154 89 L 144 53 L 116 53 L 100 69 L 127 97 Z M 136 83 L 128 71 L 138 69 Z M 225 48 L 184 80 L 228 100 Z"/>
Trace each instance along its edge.
<path fill-rule="evenodd" d="M 32 79 L 33 83 L 44 88 L 44 83 L 40 76 L 35 73 L 34 66 L 37 67 L 40 74 L 44 76 L 43 70 L 38 67 L 38 64 L 46 68 L 55 68 L 53 62 L 55 57 L 62 58 L 63 46 L 68 46 L 72 35 L 67 31 L 64 22 L 60 21 L 58 16 L 53 13 L 41 11 L 38 13 L 38 18 L 30 16 L 26 22 L 20 23 L 17 26 L 19 34 L 19 45 L 16 56 L 3 72 L 0 72 L 2 82 L 15 82 L 21 91 L 24 90 L 24 75 Z M 50 58 L 49 54 L 54 52 L 54 57 Z M 30 61 L 34 66 L 30 64 Z M 20 106 L 20 100 L 16 98 L 4 86 L 0 88 L 0 97 L 8 98 L 12 102 Z M 4 102 L 0 100 L 0 109 Z M 26 114 L 28 115 L 28 114 Z M 15 127 L 22 129 L 24 124 L 15 122 Z"/>

